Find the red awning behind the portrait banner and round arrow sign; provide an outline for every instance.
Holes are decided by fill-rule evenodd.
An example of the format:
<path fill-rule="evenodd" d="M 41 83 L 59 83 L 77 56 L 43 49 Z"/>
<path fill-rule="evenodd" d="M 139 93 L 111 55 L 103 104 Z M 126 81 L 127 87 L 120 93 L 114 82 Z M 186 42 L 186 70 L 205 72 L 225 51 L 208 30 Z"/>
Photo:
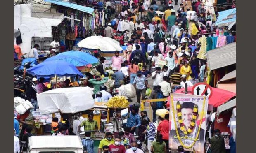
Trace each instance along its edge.
<path fill-rule="evenodd" d="M 188 87 L 187 94 L 192 94 L 191 90 L 192 90 L 192 87 Z M 227 90 L 213 88 L 213 87 L 212 87 L 212 90 L 213 90 L 213 93 L 212 93 L 211 98 L 209 98 L 208 105 L 212 105 L 213 107 L 218 107 L 221 104 L 230 100 L 232 97 L 236 96 L 236 93 L 233 93 L 233 92 L 230 92 Z M 175 93 L 185 93 L 184 91 L 185 91 L 185 88 L 182 88 L 182 89 L 177 90 Z M 166 105 L 168 107 L 170 106 L 169 99 L 168 99 L 168 102 Z"/>

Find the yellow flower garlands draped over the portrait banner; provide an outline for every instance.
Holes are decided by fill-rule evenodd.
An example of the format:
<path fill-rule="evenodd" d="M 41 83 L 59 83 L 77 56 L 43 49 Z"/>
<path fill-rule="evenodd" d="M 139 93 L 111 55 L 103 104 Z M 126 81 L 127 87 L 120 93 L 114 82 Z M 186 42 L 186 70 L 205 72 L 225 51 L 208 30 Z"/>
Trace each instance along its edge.
<path fill-rule="evenodd" d="M 177 102 L 177 116 L 178 116 L 178 121 L 179 123 L 181 124 L 181 107 L 180 107 L 180 102 Z M 180 139 L 180 135 L 178 133 L 178 127 L 177 127 L 177 123 L 176 123 L 176 118 L 175 118 L 175 109 L 174 109 L 174 103 L 173 103 L 173 95 L 171 95 L 171 106 L 172 106 L 172 111 L 173 111 L 173 119 L 174 119 L 174 125 L 175 125 L 175 131 L 176 131 L 176 134 L 177 134 L 177 137 L 178 137 L 178 140 L 180 142 L 180 144 L 184 147 L 184 148 L 191 148 L 192 146 L 194 146 L 194 144 L 196 143 L 198 137 L 199 137 L 199 132 L 200 132 L 200 129 L 201 129 L 201 125 L 202 125 L 202 121 L 203 121 L 203 117 L 204 117 L 204 105 L 205 105 L 205 97 L 204 97 L 204 102 L 203 102 L 203 109 L 202 109 L 202 116 L 201 116 L 201 119 L 200 119 L 200 123 L 199 123 L 199 130 L 197 132 L 197 135 L 196 135 L 196 138 L 194 139 L 194 142 L 190 145 L 190 146 L 185 146 L 185 144 L 183 144 L 183 142 L 181 141 Z M 194 107 L 193 109 L 193 120 L 196 120 L 196 118 L 194 118 L 194 115 L 196 115 L 195 112 L 198 112 L 198 106 L 197 107 Z M 178 114 L 179 113 L 179 114 Z M 179 118 L 180 116 L 180 118 Z M 180 121 L 181 120 L 181 121 Z M 195 124 L 195 121 L 190 124 L 190 127 L 194 126 Z M 182 127 L 181 127 L 182 128 Z M 190 129 L 190 128 L 189 128 Z M 185 127 L 184 129 L 181 129 L 181 130 L 184 130 L 184 133 L 186 134 L 187 132 L 189 132 L 190 130 L 185 130 Z M 192 132 L 192 131 L 191 131 Z M 188 134 L 188 133 L 187 133 Z"/>

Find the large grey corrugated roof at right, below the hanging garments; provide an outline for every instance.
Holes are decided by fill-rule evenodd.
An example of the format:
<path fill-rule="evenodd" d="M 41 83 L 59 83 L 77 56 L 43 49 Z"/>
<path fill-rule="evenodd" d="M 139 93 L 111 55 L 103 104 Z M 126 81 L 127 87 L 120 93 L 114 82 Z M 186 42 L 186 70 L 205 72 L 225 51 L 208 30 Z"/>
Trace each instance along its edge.
<path fill-rule="evenodd" d="M 236 42 L 213 49 L 206 53 L 210 70 L 225 67 L 236 63 Z"/>

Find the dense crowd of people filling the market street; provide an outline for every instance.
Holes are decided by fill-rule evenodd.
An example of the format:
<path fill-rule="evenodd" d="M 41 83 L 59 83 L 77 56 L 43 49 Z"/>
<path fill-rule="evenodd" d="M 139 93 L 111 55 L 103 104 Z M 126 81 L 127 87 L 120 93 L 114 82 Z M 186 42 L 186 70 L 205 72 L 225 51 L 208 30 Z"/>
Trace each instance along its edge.
<path fill-rule="evenodd" d="M 174 2 L 174 5 L 178 5 L 178 0 Z M 114 38 L 116 33 L 119 33 L 120 44 L 126 45 L 127 49 L 123 56 L 116 51 L 111 58 L 112 74 L 105 70 L 106 58 L 100 57 L 99 65 L 85 74 L 88 81 L 85 81 L 84 86 L 94 88 L 95 102 L 107 102 L 114 96 L 114 88 L 119 89 L 118 95 L 125 96 L 129 102 L 132 102 L 127 97 L 125 88 L 125 85 L 130 83 L 135 87 L 137 100 L 129 107 L 128 113 L 121 115 L 119 109 L 111 113 L 113 133 L 105 133 L 105 138 L 100 141 L 98 153 L 169 152 L 169 114 L 164 117 L 159 116 L 159 118 L 156 116 L 158 109 L 166 108 L 165 102 L 151 102 L 153 119 L 150 121 L 147 111 L 139 113 L 141 97 L 142 99 L 162 99 L 170 96 L 170 93 L 179 88 L 185 88 L 186 85 L 190 87 L 205 81 L 205 53 L 209 50 L 209 44 L 206 45 L 204 34 L 216 32 L 214 35 L 218 36 L 223 35 L 227 30 L 214 26 L 214 21 L 210 18 L 211 12 L 201 12 L 200 0 L 192 1 L 193 11 L 198 16 L 195 19 L 191 18 L 194 13 L 192 10 L 185 10 L 182 4 L 178 10 L 175 10 L 172 4 L 172 0 L 152 0 L 152 2 L 150 0 L 122 0 L 120 14 L 114 15 L 111 14 L 112 11 L 108 12 L 109 23 L 104 29 L 104 36 Z M 106 5 L 109 9 L 109 3 Z M 111 16 L 113 16 L 112 19 Z M 204 17 L 204 20 L 200 17 Z M 228 35 L 230 34 L 231 32 L 228 32 Z M 58 46 L 57 40 L 55 44 L 51 44 L 50 50 L 54 51 L 51 52 L 52 54 L 57 53 Z M 34 55 L 36 57 L 38 57 L 36 51 L 38 47 L 35 45 L 31 51 L 32 54 L 36 54 Z M 148 79 L 153 80 L 153 86 L 149 84 Z M 66 79 L 64 87 L 71 87 L 69 83 L 70 80 Z M 146 95 L 146 90 L 149 88 L 153 91 Z M 38 108 L 36 93 L 39 94 L 46 90 L 48 89 L 43 84 L 43 78 L 33 79 L 33 86 L 29 90 L 31 93 L 29 100 L 35 109 Z M 93 119 L 94 114 L 91 112 L 88 120 L 82 121 L 78 127 L 73 126 L 73 121 L 79 120 L 81 112 L 61 115 L 63 121 L 58 121 L 58 118 L 52 120 L 52 134 L 75 135 L 73 128 L 81 132 L 81 127 L 84 127 L 85 139 L 82 139 L 82 144 L 88 153 L 94 153 L 94 141 L 91 139 L 94 132 L 90 131 L 95 131 L 100 126 Z M 127 123 L 124 124 L 123 120 L 126 119 Z M 21 131 L 19 131 L 19 123 L 22 124 Z M 33 115 L 30 111 L 18 116 L 14 119 L 14 142 L 18 143 L 17 137 L 27 142 L 28 137 L 35 133 L 34 129 Z M 138 136 L 137 140 L 134 134 Z M 225 145 L 220 130 L 215 129 L 214 134 L 209 140 L 212 153 L 224 153 Z M 143 143 L 147 146 L 146 150 L 141 147 Z M 20 152 L 19 145 L 16 146 L 14 146 L 14 153 Z M 179 153 L 186 152 L 183 146 L 177 149 Z"/>

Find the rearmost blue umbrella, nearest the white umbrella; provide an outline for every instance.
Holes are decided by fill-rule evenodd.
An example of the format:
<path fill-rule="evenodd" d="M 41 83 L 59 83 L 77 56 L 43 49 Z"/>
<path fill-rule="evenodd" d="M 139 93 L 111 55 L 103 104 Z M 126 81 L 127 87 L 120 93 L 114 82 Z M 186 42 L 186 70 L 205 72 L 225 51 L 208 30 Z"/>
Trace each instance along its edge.
<path fill-rule="evenodd" d="M 59 53 L 57 56 L 61 56 L 61 55 L 69 56 L 69 57 L 75 56 L 76 58 L 81 58 L 82 60 L 88 62 L 89 64 L 92 64 L 92 66 L 98 65 L 99 63 L 99 60 L 97 58 L 92 56 L 90 53 L 86 53 L 83 51 L 66 51 L 63 53 Z M 84 65 L 80 65 L 80 66 L 84 66 Z"/>

